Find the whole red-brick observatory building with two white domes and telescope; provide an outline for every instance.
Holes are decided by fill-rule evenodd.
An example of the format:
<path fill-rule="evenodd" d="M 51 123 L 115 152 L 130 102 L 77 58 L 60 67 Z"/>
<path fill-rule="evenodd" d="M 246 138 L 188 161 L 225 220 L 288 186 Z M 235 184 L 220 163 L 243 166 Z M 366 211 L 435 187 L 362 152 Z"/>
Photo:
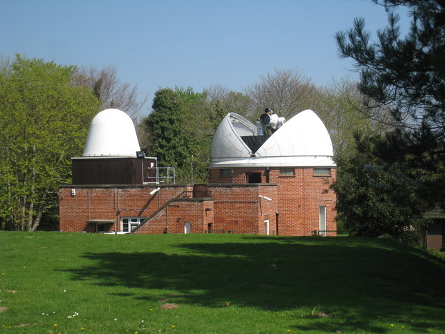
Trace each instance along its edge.
<path fill-rule="evenodd" d="M 60 231 L 335 235 L 332 155 L 314 111 L 287 122 L 268 112 L 257 125 L 228 113 L 213 137 L 209 182 L 176 184 L 140 152 L 131 118 L 106 109 L 72 158 L 73 183 L 60 186 Z"/>

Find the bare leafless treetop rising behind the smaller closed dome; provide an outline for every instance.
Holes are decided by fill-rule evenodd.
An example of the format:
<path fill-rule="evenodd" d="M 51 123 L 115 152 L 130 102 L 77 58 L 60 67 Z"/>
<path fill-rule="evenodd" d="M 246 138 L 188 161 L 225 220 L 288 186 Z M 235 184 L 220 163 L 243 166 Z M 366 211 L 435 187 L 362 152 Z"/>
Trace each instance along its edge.
<path fill-rule="evenodd" d="M 102 102 L 102 109 L 120 109 L 134 119 L 143 111 L 147 96 L 139 101 L 138 86 L 120 82 L 115 66 L 106 66 L 100 70 L 95 67 L 78 68 L 74 74 L 76 84 L 90 88 Z"/>

